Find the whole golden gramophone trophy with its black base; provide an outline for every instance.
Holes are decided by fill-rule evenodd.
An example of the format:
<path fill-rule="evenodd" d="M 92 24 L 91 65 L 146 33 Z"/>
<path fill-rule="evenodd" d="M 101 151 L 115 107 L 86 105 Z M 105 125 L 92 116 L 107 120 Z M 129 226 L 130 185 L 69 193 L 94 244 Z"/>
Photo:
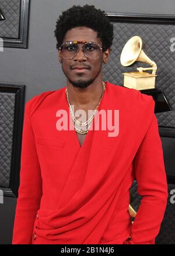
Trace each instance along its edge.
<path fill-rule="evenodd" d="M 155 88 L 157 65 L 142 50 L 142 39 L 139 36 L 133 36 L 127 41 L 120 56 L 120 62 L 124 67 L 134 64 L 135 61 L 149 64 L 151 67 L 139 67 L 136 68 L 138 71 L 122 73 L 124 74 L 124 87 L 151 95 L 155 100 L 155 112 L 171 110 L 164 93 Z M 152 73 L 146 72 L 148 70 L 152 70 Z"/>

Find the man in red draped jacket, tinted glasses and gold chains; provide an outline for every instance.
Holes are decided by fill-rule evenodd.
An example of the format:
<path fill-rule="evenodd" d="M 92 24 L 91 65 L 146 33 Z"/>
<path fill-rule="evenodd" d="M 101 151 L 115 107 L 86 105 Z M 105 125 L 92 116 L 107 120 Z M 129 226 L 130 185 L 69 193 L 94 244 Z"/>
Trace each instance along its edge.
<path fill-rule="evenodd" d="M 168 193 L 152 96 L 102 82 L 113 41 L 104 11 L 72 6 L 55 36 L 67 87 L 26 103 L 12 244 L 155 244 Z M 106 129 L 96 129 L 100 110 L 112 112 Z M 132 224 L 134 179 L 142 201 Z"/>

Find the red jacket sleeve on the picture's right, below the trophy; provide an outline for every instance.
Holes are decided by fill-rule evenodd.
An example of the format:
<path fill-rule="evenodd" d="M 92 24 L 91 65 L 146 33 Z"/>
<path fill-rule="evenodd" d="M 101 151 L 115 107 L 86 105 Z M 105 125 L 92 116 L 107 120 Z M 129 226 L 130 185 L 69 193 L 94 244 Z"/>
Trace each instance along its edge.
<path fill-rule="evenodd" d="M 134 158 L 141 205 L 131 227 L 131 237 L 124 244 L 155 244 L 167 205 L 167 179 L 154 101 L 151 106 L 149 129 Z"/>

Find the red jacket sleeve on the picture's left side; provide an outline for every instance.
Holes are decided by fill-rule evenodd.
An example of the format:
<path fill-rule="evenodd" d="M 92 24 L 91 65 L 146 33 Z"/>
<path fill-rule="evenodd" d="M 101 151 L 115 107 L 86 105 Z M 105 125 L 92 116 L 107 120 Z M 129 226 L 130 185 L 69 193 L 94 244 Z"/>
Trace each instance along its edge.
<path fill-rule="evenodd" d="M 42 179 L 28 104 L 24 110 L 20 185 L 13 226 L 12 244 L 31 244 L 34 220 L 40 206 Z"/>

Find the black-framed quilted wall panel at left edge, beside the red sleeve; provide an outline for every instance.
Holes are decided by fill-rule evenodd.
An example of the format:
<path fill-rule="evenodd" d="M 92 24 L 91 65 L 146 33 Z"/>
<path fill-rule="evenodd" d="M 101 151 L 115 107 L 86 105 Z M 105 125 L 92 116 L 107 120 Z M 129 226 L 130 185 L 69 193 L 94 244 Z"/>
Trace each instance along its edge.
<path fill-rule="evenodd" d="M 25 85 L 0 84 L 0 189 L 17 197 Z"/>

